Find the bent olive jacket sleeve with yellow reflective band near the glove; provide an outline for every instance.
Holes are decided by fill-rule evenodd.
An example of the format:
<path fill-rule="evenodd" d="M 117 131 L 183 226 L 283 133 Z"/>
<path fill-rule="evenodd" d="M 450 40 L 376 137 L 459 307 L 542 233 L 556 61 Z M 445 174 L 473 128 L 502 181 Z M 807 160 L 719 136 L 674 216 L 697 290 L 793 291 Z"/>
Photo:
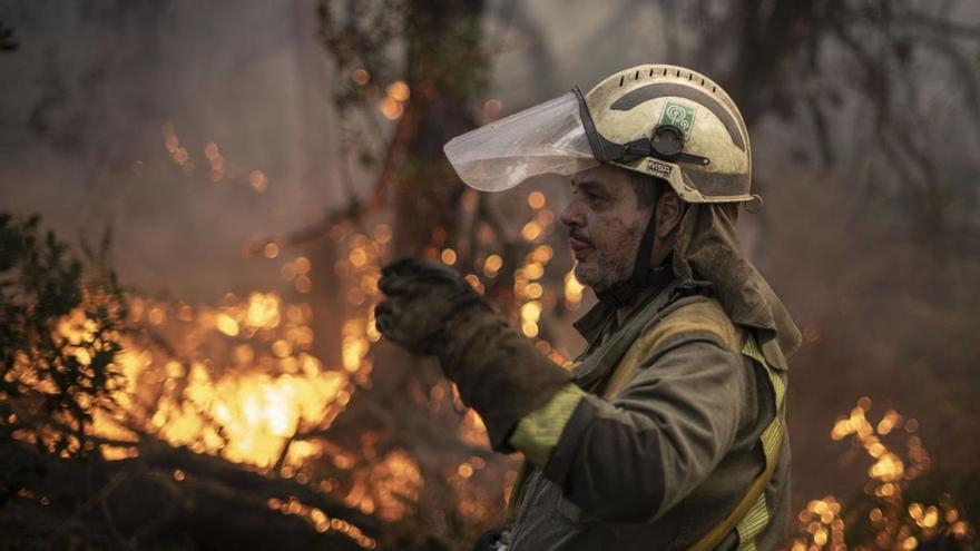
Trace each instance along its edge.
<path fill-rule="evenodd" d="M 559 393 L 518 424 L 511 444 L 529 450 L 528 459 L 585 512 L 647 522 L 697 488 L 725 456 L 748 385 L 739 353 L 708 332 L 685 333 L 658 346 L 614 401 Z M 562 413 L 569 404 L 571 412 Z M 567 419 L 558 420 L 558 429 L 548 423 L 549 406 Z M 529 430 L 536 426 L 547 430 Z"/>

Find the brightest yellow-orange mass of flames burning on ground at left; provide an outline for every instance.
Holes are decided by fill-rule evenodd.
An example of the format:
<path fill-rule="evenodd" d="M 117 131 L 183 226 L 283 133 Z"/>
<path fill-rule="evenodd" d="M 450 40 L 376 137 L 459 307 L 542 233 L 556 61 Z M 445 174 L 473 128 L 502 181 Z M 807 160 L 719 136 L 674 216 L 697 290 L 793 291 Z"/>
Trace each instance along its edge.
<path fill-rule="evenodd" d="M 143 303 L 135 301 L 137 315 L 146 309 Z M 154 307 L 163 306 L 150 311 Z M 305 352 L 312 344 L 307 311 L 308 306 L 284 305 L 274 293 L 252 293 L 241 303 L 217 309 L 198 307 L 188 341 L 204 342 L 208 335 L 249 341 L 229 347 L 227 362 L 234 368 L 218 373 L 208 360 L 186 366 L 174 358 L 158 360 L 153 351 L 130 341 L 118 356 L 126 384 L 114 397 L 137 420 L 144 417 L 139 410 L 146 409 L 148 423 L 140 429 L 173 445 L 268 469 L 282 462 L 287 440 L 317 426 L 331 405 L 350 392 L 344 373 L 325 370 Z M 272 342 L 263 343 L 257 336 Z M 256 360 L 259 346 L 268 353 Z M 155 377 L 164 377 L 163 392 L 147 404 L 153 397 L 147 388 L 156 386 L 143 383 Z M 118 436 L 118 424 L 97 419 L 95 431 Z M 315 444 L 293 444 L 284 464 L 298 466 L 320 451 Z"/>

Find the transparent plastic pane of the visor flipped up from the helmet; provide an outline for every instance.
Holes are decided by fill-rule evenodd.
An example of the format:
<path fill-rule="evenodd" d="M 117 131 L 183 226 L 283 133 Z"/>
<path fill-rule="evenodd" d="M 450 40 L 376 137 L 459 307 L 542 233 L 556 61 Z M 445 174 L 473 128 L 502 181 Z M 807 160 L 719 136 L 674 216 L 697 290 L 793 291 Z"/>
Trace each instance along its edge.
<path fill-rule="evenodd" d="M 481 191 L 503 191 L 532 176 L 571 176 L 599 165 L 575 92 L 457 136 L 443 150 L 460 179 Z"/>

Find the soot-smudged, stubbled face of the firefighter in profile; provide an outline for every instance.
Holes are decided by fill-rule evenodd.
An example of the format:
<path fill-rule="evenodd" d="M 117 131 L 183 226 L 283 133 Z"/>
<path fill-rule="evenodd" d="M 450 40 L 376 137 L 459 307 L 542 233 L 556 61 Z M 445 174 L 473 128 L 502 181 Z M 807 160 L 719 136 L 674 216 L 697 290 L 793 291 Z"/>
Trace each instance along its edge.
<path fill-rule="evenodd" d="M 598 166 L 571 178 L 572 198 L 561 213 L 578 264 L 575 277 L 596 292 L 633 273 L 651 208 L 641 207 L 625 170 Z"/>

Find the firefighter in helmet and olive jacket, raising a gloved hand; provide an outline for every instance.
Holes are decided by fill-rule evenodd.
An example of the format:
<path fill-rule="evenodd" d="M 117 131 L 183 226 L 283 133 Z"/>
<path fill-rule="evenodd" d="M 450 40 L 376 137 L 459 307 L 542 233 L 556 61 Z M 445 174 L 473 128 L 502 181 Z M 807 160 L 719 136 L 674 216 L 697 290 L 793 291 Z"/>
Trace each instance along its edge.
<path fill-rule="evenodd" d="M 772 549 L 787 521 L 787 358 L 800 332 L 739 248 L 752 152 L 708 78 L 645 65 L 457 137 L 484 191 L 569 177 L 561 222 L 597 305 L 555 365 L 452 269 L 386 266 L 381 333 L 435 355 L 492 447 L 526 459 L 508 551 Z"/>

